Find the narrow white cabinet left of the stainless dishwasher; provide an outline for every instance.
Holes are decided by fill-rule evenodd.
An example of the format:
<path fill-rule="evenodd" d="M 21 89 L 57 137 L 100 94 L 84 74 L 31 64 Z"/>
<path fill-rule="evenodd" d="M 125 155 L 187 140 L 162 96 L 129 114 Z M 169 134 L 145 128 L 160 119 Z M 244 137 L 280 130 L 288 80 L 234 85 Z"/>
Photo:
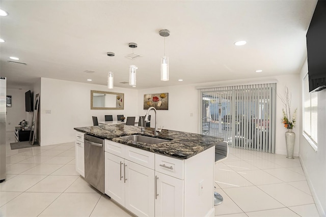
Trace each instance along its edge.
<path fill-rule="evenodd" d="M 76 171 L 85 177 L 85 161 L 84 161 L 84 133 L 77 132 L 75 140 L 75 163 Z"/>

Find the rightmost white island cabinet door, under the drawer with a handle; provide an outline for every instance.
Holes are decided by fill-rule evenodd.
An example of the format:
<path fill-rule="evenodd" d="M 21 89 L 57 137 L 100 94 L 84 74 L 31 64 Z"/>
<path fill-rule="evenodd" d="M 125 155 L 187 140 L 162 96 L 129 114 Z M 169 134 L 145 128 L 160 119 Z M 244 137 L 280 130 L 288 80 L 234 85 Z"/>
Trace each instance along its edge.
<path fill-rule="evenodd" d="M 183 180 L 155 172 L 155 216 L 183 216 Z"/>

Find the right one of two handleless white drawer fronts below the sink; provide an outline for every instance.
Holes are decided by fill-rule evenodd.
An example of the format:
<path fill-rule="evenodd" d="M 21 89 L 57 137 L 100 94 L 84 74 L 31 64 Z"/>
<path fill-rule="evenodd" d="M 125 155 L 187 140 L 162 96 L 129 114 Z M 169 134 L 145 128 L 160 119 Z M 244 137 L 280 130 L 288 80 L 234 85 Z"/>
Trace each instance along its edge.
<path fill-rule="evenodd" d="M 125 146 L 125 159 L 154 170 L 155 154 L 131 146 Z"/>

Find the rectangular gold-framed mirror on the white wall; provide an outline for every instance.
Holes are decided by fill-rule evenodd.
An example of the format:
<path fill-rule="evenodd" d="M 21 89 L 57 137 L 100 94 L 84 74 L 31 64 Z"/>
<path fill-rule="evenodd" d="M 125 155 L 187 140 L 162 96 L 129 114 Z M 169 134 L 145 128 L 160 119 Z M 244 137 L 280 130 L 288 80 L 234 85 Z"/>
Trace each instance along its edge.
<path fill-rule="evenodd" d="M 123 109 L 124 94 L 91 90 L 91 109 Z"/>

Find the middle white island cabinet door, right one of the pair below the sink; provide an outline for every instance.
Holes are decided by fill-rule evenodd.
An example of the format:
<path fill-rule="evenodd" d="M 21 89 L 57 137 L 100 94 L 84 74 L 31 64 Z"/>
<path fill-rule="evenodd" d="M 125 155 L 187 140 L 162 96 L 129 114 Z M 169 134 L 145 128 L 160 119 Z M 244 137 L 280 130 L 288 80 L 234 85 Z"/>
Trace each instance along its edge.
<path fill-rule="evenodd" d="M 154 170 L 125 160 L 126 209 L 137 216 L 154 216 Z"/>

